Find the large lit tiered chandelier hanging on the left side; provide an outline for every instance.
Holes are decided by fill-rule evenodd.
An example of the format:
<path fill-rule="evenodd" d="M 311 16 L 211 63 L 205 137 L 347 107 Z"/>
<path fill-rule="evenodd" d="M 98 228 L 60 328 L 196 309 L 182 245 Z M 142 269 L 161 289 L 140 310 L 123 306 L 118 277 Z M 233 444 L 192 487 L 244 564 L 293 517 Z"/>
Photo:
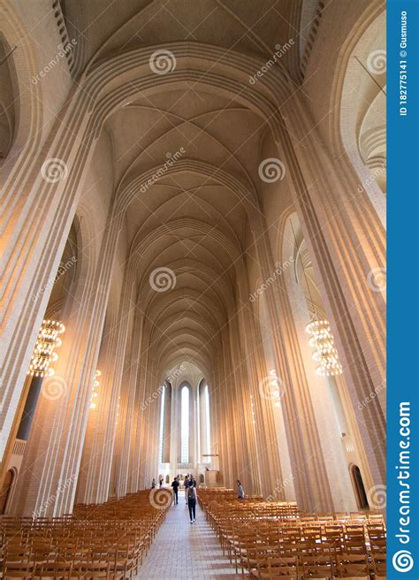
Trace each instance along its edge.
<path fill-rule="evenodd" d="M 29 363 L 27 374 L 32 377 L 45 377 L 48 374 L 52 377 L 54 369 L 50 366 L 58 359 L 55 351 L 61 347 L 60 334 L 65 332 L 65 325 L 55 320 L 43 320 L 38 338 L 34 346 L 34 353 Z"/>

